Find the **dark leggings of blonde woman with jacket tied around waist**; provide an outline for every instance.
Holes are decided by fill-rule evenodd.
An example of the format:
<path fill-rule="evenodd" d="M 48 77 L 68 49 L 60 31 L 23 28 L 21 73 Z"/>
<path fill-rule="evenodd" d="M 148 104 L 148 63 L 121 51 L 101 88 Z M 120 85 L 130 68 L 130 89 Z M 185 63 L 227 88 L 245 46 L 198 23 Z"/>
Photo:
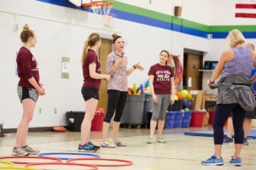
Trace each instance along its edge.
<path fill-rule="evenodd" d="M 245 112 L 238 104 L 219 104 L 216 106 L 214 119 L 212 123 L 214 144 L 223 144 L 225 122 L 233 112 L 233 127 L 235 131 L 235 144 L 243 144 L 243 120 Z"/>

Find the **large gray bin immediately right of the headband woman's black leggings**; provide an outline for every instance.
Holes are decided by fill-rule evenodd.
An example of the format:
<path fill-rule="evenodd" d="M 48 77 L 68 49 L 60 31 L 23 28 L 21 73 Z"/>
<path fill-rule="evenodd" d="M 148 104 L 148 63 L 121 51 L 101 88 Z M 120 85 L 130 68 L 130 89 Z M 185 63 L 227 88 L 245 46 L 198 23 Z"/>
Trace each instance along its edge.
<path fill-rule="evenodd" d="M 128 115 L 125 116 L 125 123 L 129 125 L 143 125 L 145 95 L 128 95 Z"/>

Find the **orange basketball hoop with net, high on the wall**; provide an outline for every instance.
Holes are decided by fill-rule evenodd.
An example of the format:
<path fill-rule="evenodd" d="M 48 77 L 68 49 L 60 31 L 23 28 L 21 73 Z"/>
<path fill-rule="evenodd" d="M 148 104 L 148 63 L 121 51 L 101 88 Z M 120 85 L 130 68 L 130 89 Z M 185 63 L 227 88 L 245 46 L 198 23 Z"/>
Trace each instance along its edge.
<path fill-rule="evenodd" d="M 83 7 L 90 7 L 94 14 L 108 15 L 113 3 L 109 1 L 93 1 L 91 3 L 83 3 Z"/>

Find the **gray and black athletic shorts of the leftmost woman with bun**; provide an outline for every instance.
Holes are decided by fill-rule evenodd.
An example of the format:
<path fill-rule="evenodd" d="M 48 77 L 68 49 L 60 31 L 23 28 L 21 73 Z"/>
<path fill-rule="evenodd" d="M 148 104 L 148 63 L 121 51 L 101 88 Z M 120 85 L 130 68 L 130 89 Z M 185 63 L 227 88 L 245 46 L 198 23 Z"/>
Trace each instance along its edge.
<path fill-rule="evenodd" d="M 18 85 L 17 92 L 20 98 L 20 103 L 22 103 L 23 99 L 32 99 L 35 102 L 38 101 L 38 90 L 35 88 L 25 88 Z"/>

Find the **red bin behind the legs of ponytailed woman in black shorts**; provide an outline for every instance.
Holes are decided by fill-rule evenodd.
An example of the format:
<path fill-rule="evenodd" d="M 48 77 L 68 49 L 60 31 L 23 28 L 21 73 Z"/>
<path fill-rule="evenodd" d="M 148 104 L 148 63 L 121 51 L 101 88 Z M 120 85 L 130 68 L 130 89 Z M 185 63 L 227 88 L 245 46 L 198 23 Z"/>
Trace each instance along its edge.
<path fill-rule="evenodd" d="M 102 108 L 97 108 L 95 115 L 91 121 L 91 131 L 102 131 L 105 111 Z"/>

